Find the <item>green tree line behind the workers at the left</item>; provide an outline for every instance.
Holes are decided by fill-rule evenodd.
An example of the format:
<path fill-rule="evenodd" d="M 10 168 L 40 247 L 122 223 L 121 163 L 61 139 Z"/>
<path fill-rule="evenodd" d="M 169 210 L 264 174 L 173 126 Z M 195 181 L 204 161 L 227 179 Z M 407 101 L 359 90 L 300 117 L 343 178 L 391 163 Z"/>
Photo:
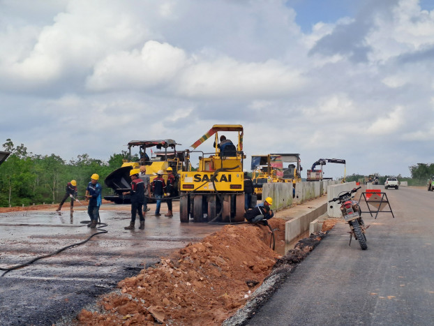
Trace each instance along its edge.
<path fill-rule="evenodd" d="M 32 154 L 23 144 L 15 147 L 10 139 L 3 144 L 3 151 L 11 154 L 0 165 L 0 207 L 59 202 L 71 180 L 77 181 L 80 198 L 93 173 L 100 176 L 103 195 L 110 194 L 112 190 L 104 185 L 104 179 L 128 158 L 128 151 L 122 151 L 110 156 L 107 162 L 88 154 L 66 162 L 55 154 Z"/>

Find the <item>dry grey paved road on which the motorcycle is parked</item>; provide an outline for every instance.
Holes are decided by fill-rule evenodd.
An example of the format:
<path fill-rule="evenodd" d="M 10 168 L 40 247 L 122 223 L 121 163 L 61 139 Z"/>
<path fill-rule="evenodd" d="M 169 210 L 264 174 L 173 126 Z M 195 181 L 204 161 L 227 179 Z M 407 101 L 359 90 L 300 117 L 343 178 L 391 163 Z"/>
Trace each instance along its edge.
<path fill-rule="evenodd" d="M 434 193 L 386 193 L 367 251 L 339 223 L 246 325 L 434 325 Z"/>

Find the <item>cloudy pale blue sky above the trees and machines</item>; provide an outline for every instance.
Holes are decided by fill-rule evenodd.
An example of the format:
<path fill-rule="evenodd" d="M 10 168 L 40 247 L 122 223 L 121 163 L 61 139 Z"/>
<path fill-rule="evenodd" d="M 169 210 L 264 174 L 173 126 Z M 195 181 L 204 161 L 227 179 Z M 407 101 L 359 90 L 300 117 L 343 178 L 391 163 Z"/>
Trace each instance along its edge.
<path fill-rule="evenodd" d="M 244 170 L 434 162 L 434 0 L 0 0 L 0 44 L 0 142 L 33 154 L 108 161 L 241 124 Z"/>

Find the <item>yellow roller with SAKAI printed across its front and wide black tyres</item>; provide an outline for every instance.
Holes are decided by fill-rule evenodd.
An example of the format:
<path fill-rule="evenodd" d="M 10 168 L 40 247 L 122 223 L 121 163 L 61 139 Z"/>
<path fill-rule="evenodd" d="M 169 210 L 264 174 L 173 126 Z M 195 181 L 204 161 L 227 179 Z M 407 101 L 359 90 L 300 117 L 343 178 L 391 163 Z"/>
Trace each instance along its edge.
<path fill-rule="evenodd" d="M 228 132 L 237 133 L 237 145 L 227 140 L 224 147 L 222 140 L 218 144 L 218 135 Z M 195 150 L 212 135 L 215 141 L 211 153 Z M 190 218 L 194 222 L 244 221 L 243 126 L 215 124 L 191 147 L 193 150 L 184 151 L 184 170 L 179 172 L 181 222 L 188 223 Z M 194 171 L 191 154 L 200 155 Z"/>

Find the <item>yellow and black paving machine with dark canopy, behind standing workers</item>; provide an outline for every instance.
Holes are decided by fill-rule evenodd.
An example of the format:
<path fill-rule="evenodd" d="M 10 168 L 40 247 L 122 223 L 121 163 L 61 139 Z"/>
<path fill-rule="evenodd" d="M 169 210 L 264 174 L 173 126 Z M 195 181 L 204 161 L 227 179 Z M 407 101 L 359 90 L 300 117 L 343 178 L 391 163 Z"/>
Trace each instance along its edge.
<path fill-rule="evenodd" d="M 149 175 L 151 182 L 156 177 L 158 170 L 165 172 L 169 167 L 173 171 L 181 170 L 184 153 L 182 151 L 177 152 L 177 145 L 180 144 L 177 144 L 172 139 L 131 140 L 128 142 L 128 159 L 124 159 L 121 167 L 110 173 L 104 180 L 105 185 L 112 188 L 114 192 L 113 195 L 104 196 L 104 199 L 116 204 L 130 203 L 130 195 L 122 195 L 122 193 L 131 189 L 130 170 L 138 169 L 140 165 L 146 166 L 146 174 Z M 153 151 L 152 148 L 154 147 L 156 150 Z M 138 149 L 138 154 L 133 154 L 132 149 Z M 151 151 L 151 156 L 147 154 L 147 149 Z M 174 175 L 177 178 L 177 174 L 174 173 Z M 167 181 L 166 173 L 163 178 Z M 177 189 L 177 185 L 175 186 Z M 175 193 L 175 195 L 178 194 Z M 149 202 L 152 202 L 152 200 Z"/>

